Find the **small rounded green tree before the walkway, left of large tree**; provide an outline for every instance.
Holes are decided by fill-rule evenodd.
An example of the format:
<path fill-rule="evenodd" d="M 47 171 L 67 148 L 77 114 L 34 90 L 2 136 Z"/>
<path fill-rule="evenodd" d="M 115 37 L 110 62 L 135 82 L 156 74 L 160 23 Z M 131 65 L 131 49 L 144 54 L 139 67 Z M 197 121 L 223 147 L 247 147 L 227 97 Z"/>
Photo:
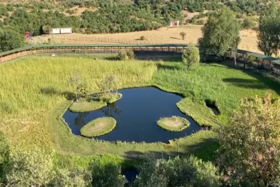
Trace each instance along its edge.
<path fill-rule="evenodd" d="M 182 60 L 187 64 L 187 69 L 189 69 L 189 66 L 199 64 L 200 55 L 198 48 L 194 44 L 190 44 L 187 50 L 183 51 Z"/>

